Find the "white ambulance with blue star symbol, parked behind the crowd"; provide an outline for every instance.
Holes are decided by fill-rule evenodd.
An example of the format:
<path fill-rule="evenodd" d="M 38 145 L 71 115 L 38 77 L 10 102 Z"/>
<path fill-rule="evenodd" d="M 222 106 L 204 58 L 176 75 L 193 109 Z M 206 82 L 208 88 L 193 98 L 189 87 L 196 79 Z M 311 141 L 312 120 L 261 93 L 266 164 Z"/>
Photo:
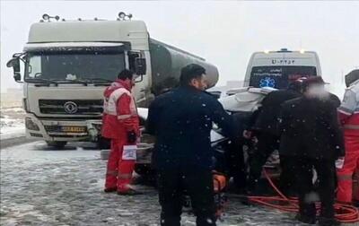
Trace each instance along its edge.
<path fill-rule="evenodd" d="M 316 52 L 279 51 L 253 53 L 245 75 L 244 86 L 285 89 L 288 83 L 301 77 L 321 75 Z"/>

